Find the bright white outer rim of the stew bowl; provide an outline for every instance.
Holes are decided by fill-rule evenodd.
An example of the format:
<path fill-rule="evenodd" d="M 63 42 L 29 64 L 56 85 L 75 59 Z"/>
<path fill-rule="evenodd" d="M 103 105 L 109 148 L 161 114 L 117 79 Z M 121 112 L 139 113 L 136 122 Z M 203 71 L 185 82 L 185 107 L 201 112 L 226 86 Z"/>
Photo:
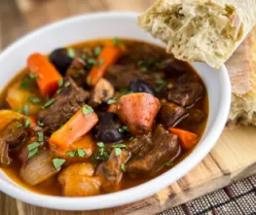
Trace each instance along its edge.
<path fill-rule="evenodd" d="M 139 14 L 134 12 L 100 12 L 100 13 L 91 13 L 81 16 L 75 16 L 71 18 L 64 18 L 62 20 L 56 21 L 54 23 L 48 24 L 44 27 L 41 27 L 35 31 L 32 31 L 29 34 L 22 36 L 10 47 L 5 49 L 0 53 L 0 57 L 3 57 L 5 54 L 14 52 L 19 45 L 25 43 L 29 38 L 36 37 L 48 28 L 60 27 L 63 24 L 75 22 L 80 18 L 134 18 Z M 212 149 L 212 147 L 217 142 L 221 132 L 226 125 L 228 119 L 230 106 L 231 106 L 231 84 L 228 75 L 228 71 L 223 65 L 220 70 L 220 79 L 219 83 L 222 86 L 222 91 L 220 93 L 220 106 L 219 112 L 215 121 L 211 126 L 211 131 L 204 137 L 203 142 L 208 142 L 207 144 L 201 144 L 201 147 L 197 148 L 197 153 L 192 153 L 190 156 L 181 161 L 178 165 L 174 166 L 172 169 L 166 171 L 160 176 L 145 182 L 141 185 L 138 185 L 133 188 L 129 188 L 124 191 L 117 193 L 100 195 L 95 197 L 52 197 L 46 195 L 40 195 L 33 193 L 25 188 L 20 188 L 20 186 L 15 186 L 11 183 L 1 180 L 0 178 L 0 191 L 3 193 L 18 198 L 19 200 L 30 203 L 37 206 L 43 206 L 52 209 L 61 209 L 61 210 L 92 210 L 92 209 L 103 209 L 116 207 L 124 204 L 128 204 L 145 197 L 150 197 L 155 195 L 160 190 L 174 183 L 181 177 L 183 177 L 188 171 L 194 168 Z M 178 167 L 178 168 L 177 168 Z M 0 169 L 1 171 L 1 169 Z M 175 174 L 177 173 L 178 174 Z M 172 175 L 173 174 L 173 175 Z M 172 175 L 171 180 L 169 176 Z M 135 197 L 134 197 L 135 196 Z"/>

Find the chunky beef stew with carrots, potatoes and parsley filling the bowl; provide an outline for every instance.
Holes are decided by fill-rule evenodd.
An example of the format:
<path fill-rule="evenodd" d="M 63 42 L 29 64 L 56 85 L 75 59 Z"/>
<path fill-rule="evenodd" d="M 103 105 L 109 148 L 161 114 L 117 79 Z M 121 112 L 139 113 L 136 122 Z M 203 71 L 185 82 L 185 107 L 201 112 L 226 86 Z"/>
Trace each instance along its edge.
<path fill-rule="evenodd" d="M 106 39 L 31 54 L 1 93 L 0 167 L 36 193 L 89 197 L 144 183 L 197 146 L 197 72 L 165 49 Z"/>

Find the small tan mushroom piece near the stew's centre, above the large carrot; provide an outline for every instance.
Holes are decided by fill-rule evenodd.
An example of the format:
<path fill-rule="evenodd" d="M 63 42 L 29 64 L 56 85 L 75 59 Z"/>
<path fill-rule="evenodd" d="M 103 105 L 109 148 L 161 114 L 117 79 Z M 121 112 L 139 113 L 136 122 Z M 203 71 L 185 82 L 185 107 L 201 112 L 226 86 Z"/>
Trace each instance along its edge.
<path fill-rule="evenodd" d="M 93 88 L 89 104 L 95 108 L 102 102 L 107 102 L 114 96 L 114 93 L 114 87 L 106 79 L 102 78 L 98 80 Z"/>

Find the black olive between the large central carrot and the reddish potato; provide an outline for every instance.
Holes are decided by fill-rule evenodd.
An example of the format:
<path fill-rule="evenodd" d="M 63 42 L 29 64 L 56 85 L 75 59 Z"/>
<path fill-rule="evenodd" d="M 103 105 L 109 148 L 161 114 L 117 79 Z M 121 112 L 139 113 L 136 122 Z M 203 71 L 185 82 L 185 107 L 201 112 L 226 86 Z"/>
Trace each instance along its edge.
<path fill-rule="evenodd" d="M 97 128 L 96 138 L 106 143 L 118 142 L 124 139 L 124 133 L 120 132 L 122 123 L 118 115 L 106 112 L 100 119 Z"/>

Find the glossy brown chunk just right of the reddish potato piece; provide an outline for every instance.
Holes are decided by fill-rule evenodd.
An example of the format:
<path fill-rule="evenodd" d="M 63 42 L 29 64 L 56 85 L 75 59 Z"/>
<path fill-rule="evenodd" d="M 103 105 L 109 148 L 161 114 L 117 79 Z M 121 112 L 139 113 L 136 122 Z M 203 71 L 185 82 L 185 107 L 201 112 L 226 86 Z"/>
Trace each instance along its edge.
<path fill-rule="evenodd" d="M 188 115 L 185 108 L 168 102 L 162 105 L 158 118 L 165 126 L 175 126 L 187 118 Z"/>

